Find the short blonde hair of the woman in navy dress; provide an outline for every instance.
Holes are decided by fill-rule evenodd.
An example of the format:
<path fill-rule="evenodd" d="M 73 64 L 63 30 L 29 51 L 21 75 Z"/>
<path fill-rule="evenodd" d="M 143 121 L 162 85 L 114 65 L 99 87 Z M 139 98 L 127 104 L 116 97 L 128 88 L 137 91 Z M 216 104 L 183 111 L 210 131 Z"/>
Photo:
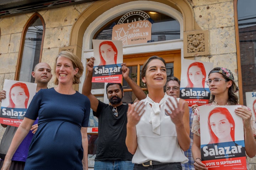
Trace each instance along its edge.
<path fill-rule="evenodd" d="M 57 59 L 59 56 L 62 56 L 62 57 L 65 57 L 69 60 L 71 60 L 72 62 L 72 65 L 73 65 L 73 68 L 78 68 L 78 72 L 76 73 L 76 75 L 74 76 L 73 78 L 73 84 L 79 84 L 81 83 L 80 81 L 80 77 L 82 76 L 82 73 L 84 72 L 84 66 L 82 65 L 82 62 L 81 60 L 78 58 L 78 56 L 76 56 L 75 54 L 73 53 L 70 53 L 69 51 L 61 51 L 56 60 L 55 60 L 55 73 L 56 73 L 56 64 L 57 64 Z M 59 84 L 59 81 L 57 79 L 57 77 L 55 78 L 54 80 L 54 84 L 55 85 L 58 85 Z"/>

